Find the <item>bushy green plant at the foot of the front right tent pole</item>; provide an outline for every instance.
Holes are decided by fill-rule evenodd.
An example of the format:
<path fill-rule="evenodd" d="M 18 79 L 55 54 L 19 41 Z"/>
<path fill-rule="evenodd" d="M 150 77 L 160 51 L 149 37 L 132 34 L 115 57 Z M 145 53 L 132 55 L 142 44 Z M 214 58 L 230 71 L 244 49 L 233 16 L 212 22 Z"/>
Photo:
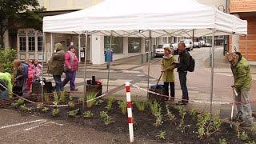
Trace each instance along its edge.
<path fill-rule="evenodd" d="M 213 116 L 209 113 L 198 114 L 198 138 L 208 138 L 219 130 L 222 122 L 220 118 Z"/>

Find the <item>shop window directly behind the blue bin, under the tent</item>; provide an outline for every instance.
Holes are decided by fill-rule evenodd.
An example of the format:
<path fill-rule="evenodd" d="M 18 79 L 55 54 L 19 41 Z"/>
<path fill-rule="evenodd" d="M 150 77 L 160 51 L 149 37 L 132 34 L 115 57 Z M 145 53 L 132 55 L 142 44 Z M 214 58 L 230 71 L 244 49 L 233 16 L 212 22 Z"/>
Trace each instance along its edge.
<path fill-rule="evenodd" d="M 112 38 L 111 48 L 114 54 L 122 54 L 123 53 L 123 38 L 122 37 L 114 37 Z M 104 37 L 104 49 L 107 50 L 110 48 L 110 37 Z"/>

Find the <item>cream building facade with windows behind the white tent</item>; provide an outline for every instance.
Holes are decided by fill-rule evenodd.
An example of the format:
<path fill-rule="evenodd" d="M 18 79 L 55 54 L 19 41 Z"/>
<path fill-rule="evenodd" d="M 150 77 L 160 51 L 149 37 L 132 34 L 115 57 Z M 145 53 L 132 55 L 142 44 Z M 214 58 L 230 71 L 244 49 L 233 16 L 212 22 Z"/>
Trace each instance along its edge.
<path fill-rule="evenodd" d="M 56 14 L 65 14 L 75 10 L 85 9 L 94 6 L 102 0 L 39 0 L 40 6 L 44 6 L 46 11 L 44 16 L 51 16 Z M 203 4 L 215 6 L 219 10 L 226 10 L 226 0 L 198 0 Z M 87 50 L 85 52 L 86 38 L 84 35 L 78 34 L 50 34 L 46 33 L 45 49 L 42 45 L 42 33 L 30 28 L 19 29 L 17 32 L 16 43 L 18 58 L 25 60 L 25 58 L 35 58 L 38 61 L 43 59 L 47 62 L 50 56 L 54 53 L 54 44 L 62 43 L 64 50 L 68 49 L 72 43 L 77 49 L 79 62 L 84 61 L 85 57 L 88 62 L 93 64 L 104 63 L 104 51 L 110 47 L 110 37 L 90 35 L 87 39 Z M 153 39 L 153 47 L 164 44 L 179 42 L 182 37 L 165 37 Z M 206 39 L 206 38 L 205 38 Z M 206 39 L 207 41 L 207 39 Z M 126 58 L 139 54 L 146 54 L 150 51 L 149 41 L 145 38 L 122 38 L 117 37 L 112 40 L 112 50 L 114 52 L 114 60 Z"/>

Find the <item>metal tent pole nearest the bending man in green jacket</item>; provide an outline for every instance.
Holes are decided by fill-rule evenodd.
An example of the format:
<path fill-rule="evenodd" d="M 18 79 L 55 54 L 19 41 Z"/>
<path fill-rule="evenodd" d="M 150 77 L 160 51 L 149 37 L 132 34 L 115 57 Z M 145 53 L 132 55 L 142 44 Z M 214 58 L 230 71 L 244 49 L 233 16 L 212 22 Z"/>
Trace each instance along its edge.
<path fill-rule="evenodd" d="M 214 97 L 214 36 L 215 31 L 213 29 L 212 35 L 212 47 L 211 47 L 211 77 L 210 77 L 210 114 L 212 114 L 212 106 L 213 106 L 213 97 Z"/>

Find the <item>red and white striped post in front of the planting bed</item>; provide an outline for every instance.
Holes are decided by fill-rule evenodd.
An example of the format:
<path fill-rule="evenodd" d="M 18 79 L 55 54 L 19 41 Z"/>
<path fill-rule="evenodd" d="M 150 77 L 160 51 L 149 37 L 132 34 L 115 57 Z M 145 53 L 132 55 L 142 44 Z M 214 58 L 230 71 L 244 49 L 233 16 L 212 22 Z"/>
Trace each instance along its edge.
<path fill-rule="evenodd" d="M 127 114 L 128 114 L 130 142 L 134 142 L 134 126 L 133 126 L 132 102 L 130 98 L 130 82 L 126 82 L 126 100 L 127 100 Z"/>

